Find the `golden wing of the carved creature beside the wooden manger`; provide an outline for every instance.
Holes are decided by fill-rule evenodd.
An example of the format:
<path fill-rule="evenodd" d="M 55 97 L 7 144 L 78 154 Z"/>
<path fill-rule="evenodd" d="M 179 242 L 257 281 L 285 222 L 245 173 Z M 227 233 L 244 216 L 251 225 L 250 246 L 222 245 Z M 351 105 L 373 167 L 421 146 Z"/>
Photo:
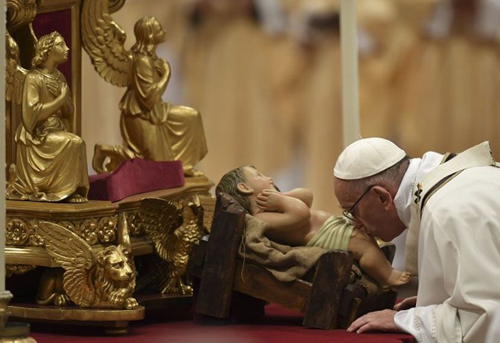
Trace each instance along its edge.
<path fill-rule="evenodd" d="M 176 252 L 174 231 L 183 224 L 182 208 L 161 198 L 141 200 L 141 224 L 155 244 L 161 259 L 172 261 Z"/>

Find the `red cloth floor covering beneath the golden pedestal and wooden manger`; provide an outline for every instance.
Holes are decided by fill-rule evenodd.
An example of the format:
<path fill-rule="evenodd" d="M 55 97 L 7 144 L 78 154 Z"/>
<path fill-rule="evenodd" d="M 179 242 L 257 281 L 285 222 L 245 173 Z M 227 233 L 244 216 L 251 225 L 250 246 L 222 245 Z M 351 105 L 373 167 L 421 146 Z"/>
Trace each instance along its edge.
<path fill-rule="evenodd" d="M 147 315 L 146 315 L 147 317 Z M 128 335 L 109 337 L 102 329 L 32 324 L 31 337 L 43 342 L 175 342 L 175 343 L 253 343 L 253 342 L 354 342 L 413 343 L 406 333 L 349 333 L 344 329 L 317 330 L 302 327 L 302 315 L 277 305 L 266 306 L 266 314 L 245 324 L 197 325 L 192 320 L 131 323 Z"/>

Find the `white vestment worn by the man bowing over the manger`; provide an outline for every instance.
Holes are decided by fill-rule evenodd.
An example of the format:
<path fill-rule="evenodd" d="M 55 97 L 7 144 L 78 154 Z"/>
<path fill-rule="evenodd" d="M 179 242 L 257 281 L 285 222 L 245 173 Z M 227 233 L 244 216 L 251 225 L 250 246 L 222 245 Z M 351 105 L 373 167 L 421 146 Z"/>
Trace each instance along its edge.
<path fill-rule="evenodd" d="M 428 154 L 435 164 L 437 154 Z M 433 178 L 438 167 L 429 171 L 426 155 L 407 171 L 413 182 L 403 178 L 401 185 L 413 184 L 410 217 L 420 222 L 416 230 L 409 224 L 409 239 L 414 230 L 418 243 L 418 253 L 413 251 L 418 257 L 417 307 L 399 311 L 394 321 L 418 342 L 484 342 L 490 318 L 500 308 L 500 168 L 465 169 L 429 196 L 420 213 L 422 197 L 435 184 L 424 185 L 425 180 L 440 180 Z M 427 169 L 425 174 L 421 169 Z M 405 217 L 400 212 L 408 211 L 400 207 L 398 214 Z"/>

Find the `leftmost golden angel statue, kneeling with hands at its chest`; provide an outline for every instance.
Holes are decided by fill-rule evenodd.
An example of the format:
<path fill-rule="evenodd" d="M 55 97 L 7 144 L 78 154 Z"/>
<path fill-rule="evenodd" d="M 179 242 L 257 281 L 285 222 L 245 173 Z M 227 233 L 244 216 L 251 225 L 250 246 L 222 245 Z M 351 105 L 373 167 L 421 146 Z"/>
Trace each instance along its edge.
<path fill-rule="evenodd" d="M 85 143 L 69 132 L 73 102 L 57 67 L 67 61 L 68 47 L 58 32 L 42 36 L 35 46 L 33 69 L 19 65 L 19 47 L 7 34 L 7 99 L 21 103 L 16 130 L 16 165 L 7 198 L 86 202 L 89 190 Z M 12 169 L 14 169 L 12 167 Z"/>

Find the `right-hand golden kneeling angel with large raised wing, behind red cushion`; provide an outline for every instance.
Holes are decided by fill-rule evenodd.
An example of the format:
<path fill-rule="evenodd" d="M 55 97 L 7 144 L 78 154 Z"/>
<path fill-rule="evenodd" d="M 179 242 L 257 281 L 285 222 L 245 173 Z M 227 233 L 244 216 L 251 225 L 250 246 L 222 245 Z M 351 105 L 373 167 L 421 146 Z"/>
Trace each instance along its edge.
<path fill-rule="evenodd" d="M 110 171 L 128 158 L 181 160 L 185 174 L 207 154 L 203 122 L 198 110 L 163 102 L 170 66 L 156 55 L 166 32 L 155 17 L 135 23 L 136 43 L 124 48 L 123 29 L 109 15 L 108 0 L 85 0 L 82 7 L 82 43 L 95 70 L 107 82 L 127 87 L 120 101 L 123 146 L 95 145 L 92 166 Z M 110 159 L 106 163 L 106 157 Z"/>

